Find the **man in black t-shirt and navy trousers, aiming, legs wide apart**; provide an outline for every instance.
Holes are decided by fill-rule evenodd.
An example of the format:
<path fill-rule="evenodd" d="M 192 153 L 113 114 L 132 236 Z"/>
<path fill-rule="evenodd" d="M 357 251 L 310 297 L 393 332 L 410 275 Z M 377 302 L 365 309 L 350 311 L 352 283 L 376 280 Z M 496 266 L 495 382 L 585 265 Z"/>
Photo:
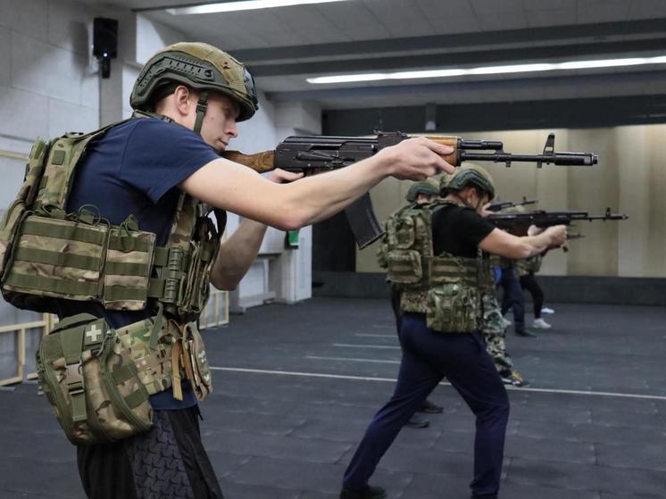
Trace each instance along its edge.
<path fill-rule="evenodd" d="M 527 258 L 564 244 L 566 227 L 515 237 L 479 213 L 495 195 L 480 167 L 462 167 L 445 197 L 411 220 L 396 220 L 387 237 L 389 279 L 400 287 L 403 357 L 395 392 L 375 415 L 345 470 L 341 499 L 381 499 L 368 480 L 404 423 L 446 377 L 475 414 L 472 497 L 496 498 L 502 474 L 509 400 L 479 335 L 481 295 L 489 266 L 484 254 Z M 391 236 L 393 234 L 393 236 Z"/>

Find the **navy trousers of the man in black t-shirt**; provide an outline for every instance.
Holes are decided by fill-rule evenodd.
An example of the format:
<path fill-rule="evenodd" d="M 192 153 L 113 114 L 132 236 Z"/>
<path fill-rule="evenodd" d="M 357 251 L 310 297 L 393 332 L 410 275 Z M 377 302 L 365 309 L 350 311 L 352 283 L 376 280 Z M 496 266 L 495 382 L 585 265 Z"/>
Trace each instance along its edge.
<path fill-rule="evenodd" d="M 375 415 L 352 461 L 343 486 L 362 491 L 395 437 L 446 377 L 477 418 L 474 440 L 474 495 L 499 490 L 509 398 L 478 333 L 441 334 L 426 327 L 423 314 L 407 313 L 400 330 L 403 358 L 391 399 Z"/>

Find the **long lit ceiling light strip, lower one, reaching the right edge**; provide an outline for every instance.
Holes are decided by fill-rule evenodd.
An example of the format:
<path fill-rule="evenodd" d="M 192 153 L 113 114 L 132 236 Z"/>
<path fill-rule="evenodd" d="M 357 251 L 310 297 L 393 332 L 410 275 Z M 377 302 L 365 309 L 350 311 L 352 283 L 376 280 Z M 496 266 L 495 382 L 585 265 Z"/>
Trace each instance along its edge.
<path fill-rule="evenodd" d="M 382 81 L 385 79 L 427 79 L 450 78 L 479 74 L 508 74 L 533 71 L 587 70 L 594 68 L 615 68 L 619 66 L 642 66 L 645 64 L 664 64 L 666 55 L 656 57 L 631 57 L 627 59 L 605 59 L 601 61 L 540 62 L 536 64 L 513 64 L 507 66 L 485 66 L 468 69 L 397 71 L 391 73 L 341 74 L 308 78 L 314 85 L 326 83 L 352 83 L 358 81 Z"/>

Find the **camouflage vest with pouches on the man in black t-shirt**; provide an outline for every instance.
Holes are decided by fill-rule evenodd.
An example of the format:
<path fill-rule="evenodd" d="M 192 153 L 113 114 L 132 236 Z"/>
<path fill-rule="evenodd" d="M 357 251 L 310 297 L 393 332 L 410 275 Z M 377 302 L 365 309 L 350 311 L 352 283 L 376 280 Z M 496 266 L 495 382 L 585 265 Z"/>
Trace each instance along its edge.
<path fill-rule="evenodd" d="M 451 205 L 461 204 L 445 199 L 414 203 L 391 215 L 379 264 L 400 290 L 401 312 L 425 313 L 428 327 L 436 331 L 472 332 L 479 329 L 489 267 L 480 250 L 476 258 L 434 254 L 432 215 Z"/>

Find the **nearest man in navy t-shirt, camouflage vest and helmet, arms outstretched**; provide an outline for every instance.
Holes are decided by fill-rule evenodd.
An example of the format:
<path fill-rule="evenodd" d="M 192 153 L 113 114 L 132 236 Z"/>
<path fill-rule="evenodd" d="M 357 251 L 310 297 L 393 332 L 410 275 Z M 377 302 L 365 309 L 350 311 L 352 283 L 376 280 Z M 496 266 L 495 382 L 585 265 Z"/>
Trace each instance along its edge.
<path fill-rule="evenodd" d="M 2 290 L 61 318 L 40 346 L 39 380 L 78 445 L 88 497 L 221 498 L 197 421 L 211 390 L 196 331 L 209 282 L 237 286 L 265 224 L 298 229 L 388 176 L 454 171 L 443 159 L 452 148 L 410 139 L 296 182 L 275 171 L 271 182 L 219 155 L 257 99 L 243 64 L 202 43 L 154 54 L 130 104 L 127 121 L 33 147 L 0 228 Z M 246 220 L 220 245 L 224 210 Z"/>

